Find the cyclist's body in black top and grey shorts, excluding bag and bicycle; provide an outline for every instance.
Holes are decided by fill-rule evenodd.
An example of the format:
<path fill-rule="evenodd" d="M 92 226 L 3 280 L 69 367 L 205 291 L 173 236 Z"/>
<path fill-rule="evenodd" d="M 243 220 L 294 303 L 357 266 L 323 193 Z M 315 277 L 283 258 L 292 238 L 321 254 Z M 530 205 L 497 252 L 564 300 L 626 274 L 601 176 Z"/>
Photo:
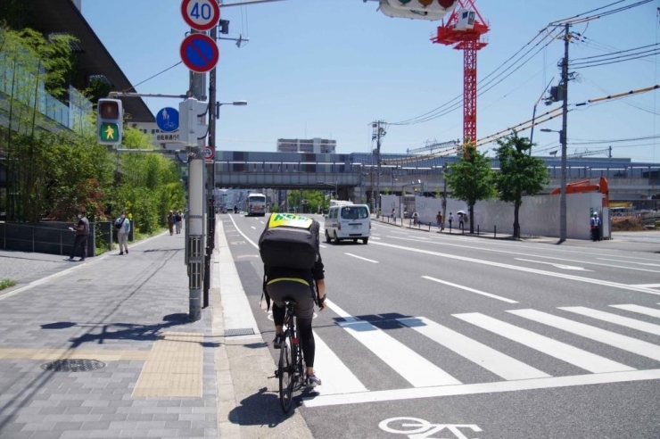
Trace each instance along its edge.
<path fill-rule="evenodd" d="M 321 385 L 321 380 L 314 374 L 316 344 L 314 344 L 314 334 L 311 330 L 314 303 L 317 302 L 314 285 L 316 285 L 318 292 L 319 311 L 326 308 L 326 281 L 321 255 L 318 254 L 318 259 L 310 270 L 266 266 L 264 266 L 264 270 L 266 292 L 273 301 L 273 320 L 275 320 L 273 347 L 280 349 L 284 343 L 285 301 L 293 300 L 295 301 L 294 312 L 301 337 L 302 356 L 307 367 L 305 385 L 307 387 Z"/>

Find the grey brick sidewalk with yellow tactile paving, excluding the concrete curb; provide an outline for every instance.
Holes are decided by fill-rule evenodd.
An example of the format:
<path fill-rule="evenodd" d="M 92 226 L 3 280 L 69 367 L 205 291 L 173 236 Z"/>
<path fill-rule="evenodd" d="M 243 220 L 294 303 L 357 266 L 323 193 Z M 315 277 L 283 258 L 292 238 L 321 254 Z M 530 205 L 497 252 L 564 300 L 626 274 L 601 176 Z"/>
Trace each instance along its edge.
<path fill-rule="evenodd" d="M 184 236 L 46 261 L 57 275 L 0 291 L 0 439 L 219 436 L 212 319 L 187 320 Z M 62 359 L 105 366 L 43 369 Z"/>

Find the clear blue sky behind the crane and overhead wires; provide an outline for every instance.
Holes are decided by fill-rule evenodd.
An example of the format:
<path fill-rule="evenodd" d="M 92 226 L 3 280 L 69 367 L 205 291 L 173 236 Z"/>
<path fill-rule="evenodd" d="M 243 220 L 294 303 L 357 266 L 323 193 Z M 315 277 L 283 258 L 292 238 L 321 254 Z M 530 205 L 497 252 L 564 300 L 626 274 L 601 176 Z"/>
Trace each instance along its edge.
<path fill-rule="evenodd" d="M 478 79 L 499 68 L 550 21 L 614 1 L 477 0 L 491 27 L 486 35 L 489 44 L 478 54 Z M 633 3 L 627 0 L 616 6 Z M 82 12 L 128 79 L 138 84 L 181 61 L 179 46 L 189 29 L 180 4 L 180 0 L 113 0 L 111 5 L 84 0 Z M 285 0 L 222 9 L 222 18 L 231 21 L 230 33 L 223 37 L 243 34 L 250 41 L 240 49 L 232 41 L 219 41 L 219 102 L 244 99 L 248 105 L 221 107 L 218 149 L 275 151 L 280 137 L 325 137 L 337 141 L 338 153 L 367 153 L 375 146 L 372 120 L 416 118 L 460 95 L 463 53 L 430 41 L 440 22 L 392 19 L 376 12 L 376 6 L 362 0 Z M 655 45 L 660 41 L 658 6 L 660 2 L 654 1 L 573 26 L 589 42 L 572 44 L 570 58 Z M 507 76 L 522 64 L 516 63 L 500 77 L 506 79 L 478 97 L 478 138 L 532 118 L 533 105 L 550 79 L 554 77 L 557 84 L 563 50 L 563 41 L 555 40 Z M 656 85 L 658 63 L 656 55 L 575 70 L 578 79 L 569 85 L 569 104 Z M 188 72 L 179 64 L 136 89 L 185 94 Z M 660 139 L 615 142 L 660 137 L 658 93 L 574 107 L 568 117 L 568 153 L 612 145 L 615 157 L 660 162 Z M 178 104 L 176 99 L 144 99 L 154 113 Z M 537 114 L 550 108 L 554 105 L 541 103 Z M 427 141 L 458 139 L 462 120 L 459 106 L 425 123 L 392 125 L 382 151 L 405 153 Z M 540 155 L 557 150 L 557 133 L 542 133 L 539 128 L 559 129 L 560 118 L 537 126 L 533 135 Z M 529 136 L 529 130 L 521 135 Z"/>

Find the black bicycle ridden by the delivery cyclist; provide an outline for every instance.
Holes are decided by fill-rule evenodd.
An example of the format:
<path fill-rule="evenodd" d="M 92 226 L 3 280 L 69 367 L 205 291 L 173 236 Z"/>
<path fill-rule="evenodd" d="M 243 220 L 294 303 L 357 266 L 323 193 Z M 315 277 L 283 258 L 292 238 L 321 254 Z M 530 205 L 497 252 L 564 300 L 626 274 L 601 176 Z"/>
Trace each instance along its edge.
<path fill-rule="evenodd" d="M 285 301 L 285 334 L 279 352 L 279 363 L 275 376 L 279 378 L 279 402 L 288 413 L 293 402 L 293 392 L 305 384 L 305 369 L 302 367 L 302 349 L 298 328 L 295 326 L 294 301 Z"/>

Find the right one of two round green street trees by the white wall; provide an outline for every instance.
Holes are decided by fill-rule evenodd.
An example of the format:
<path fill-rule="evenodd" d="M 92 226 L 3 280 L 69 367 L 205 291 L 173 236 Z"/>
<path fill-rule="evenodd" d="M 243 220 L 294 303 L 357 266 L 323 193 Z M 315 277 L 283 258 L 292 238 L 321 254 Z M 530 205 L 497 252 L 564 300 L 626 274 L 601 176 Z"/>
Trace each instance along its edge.
<path fill-rule="evenodd" d="M 543 161 L 532 157 L 532 143 L 527 137 L 518 137 L 516 131 L 498 140 L 494 151 L 499 160 L 499 171 L 495 173 L 495 184 L 499 199 L 514 203 L 514 236 L 520 237 L 518 212 L 523 204 L 523 195 L 537 195 L 548 184 L 549 176 Z"/>

